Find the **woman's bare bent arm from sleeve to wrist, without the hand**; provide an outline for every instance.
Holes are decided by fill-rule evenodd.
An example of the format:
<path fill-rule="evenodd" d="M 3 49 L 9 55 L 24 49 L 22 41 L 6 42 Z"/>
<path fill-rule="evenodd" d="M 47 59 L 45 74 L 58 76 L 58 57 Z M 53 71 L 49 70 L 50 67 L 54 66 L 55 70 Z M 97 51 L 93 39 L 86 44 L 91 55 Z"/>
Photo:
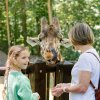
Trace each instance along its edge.
<path fill-rule="evenodd" d="M 66 92 L 82 92 L 85 93 L 90 84 L 91 72 L 80 71 L 79 72 L 79 84 L 70 85 L 65 87 Z"/>

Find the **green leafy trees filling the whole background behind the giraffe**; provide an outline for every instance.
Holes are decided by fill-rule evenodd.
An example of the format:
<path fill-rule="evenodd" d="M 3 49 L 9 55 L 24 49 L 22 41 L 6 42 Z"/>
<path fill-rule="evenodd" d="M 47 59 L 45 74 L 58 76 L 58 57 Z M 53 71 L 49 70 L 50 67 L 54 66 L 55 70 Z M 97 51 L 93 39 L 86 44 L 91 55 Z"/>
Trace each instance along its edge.
<path fill-rule="evenodd" d="M 7 52 L 7 28 L 5 0 L 0 1 L 0 50 Z M 95 35 L 94 47 L 100 53 L 100 1 L 99 0 L 53 0 L 53 16 L 60 20 L 64 37 L 77 22 L 86 22 Z M 9 27 L 11 45 L 26 44 L 27 36 L 36 37 L 40 32 L 40 19 L 48 18 L 47 0 L 9 0 Z M 97 28 L 99 26 L 99 28 Z M 29 46 L 34 55 L 40 55 L 40 48 Z M 79 53 L 72 47 L 61 47 L 66 60 L 77 60 Z"/>

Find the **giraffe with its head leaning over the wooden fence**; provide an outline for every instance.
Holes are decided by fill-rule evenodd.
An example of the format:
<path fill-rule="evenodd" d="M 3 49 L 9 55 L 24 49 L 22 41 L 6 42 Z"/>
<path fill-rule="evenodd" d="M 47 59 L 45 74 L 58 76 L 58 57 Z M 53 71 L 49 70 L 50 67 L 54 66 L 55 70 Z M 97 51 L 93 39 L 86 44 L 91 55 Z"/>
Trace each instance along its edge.
<path fill-rule="evenodd" d="M 28 37 L 27 43 L 31 46 L 40 45 L 41 55 L 47 65 L 55 65 L 63 62 L 60 53 L 60 46 L 68 48 L 71 44 L 67 38 L 63 38 L 58 18 L 52 19 L 52 24 L 48 25 L 45 17 L 41 18 L 41 31 L 37 37 Z"/>

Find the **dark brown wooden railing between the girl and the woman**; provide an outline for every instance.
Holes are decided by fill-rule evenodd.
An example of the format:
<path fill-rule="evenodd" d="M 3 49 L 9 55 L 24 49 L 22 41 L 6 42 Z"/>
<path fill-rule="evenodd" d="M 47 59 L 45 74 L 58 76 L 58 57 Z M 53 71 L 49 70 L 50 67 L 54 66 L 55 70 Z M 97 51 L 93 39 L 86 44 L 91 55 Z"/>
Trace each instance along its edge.
<path fill-rule="evenodd" d="M 70 82 L 72 67 L 73 63 L 67 61 L 56 66 L 47 66 L 44 62 L 30 63 L 23 73 L 27 74 L 30 79 L 33 92 L 37 91 L 40 94 L 40 100 L 69 100 L 67 93 L 60 97 L 50 97 L 50 90 L 58 83 Z M 0 69 L 0 75 L 3 74 L 4 69 Z"/>

